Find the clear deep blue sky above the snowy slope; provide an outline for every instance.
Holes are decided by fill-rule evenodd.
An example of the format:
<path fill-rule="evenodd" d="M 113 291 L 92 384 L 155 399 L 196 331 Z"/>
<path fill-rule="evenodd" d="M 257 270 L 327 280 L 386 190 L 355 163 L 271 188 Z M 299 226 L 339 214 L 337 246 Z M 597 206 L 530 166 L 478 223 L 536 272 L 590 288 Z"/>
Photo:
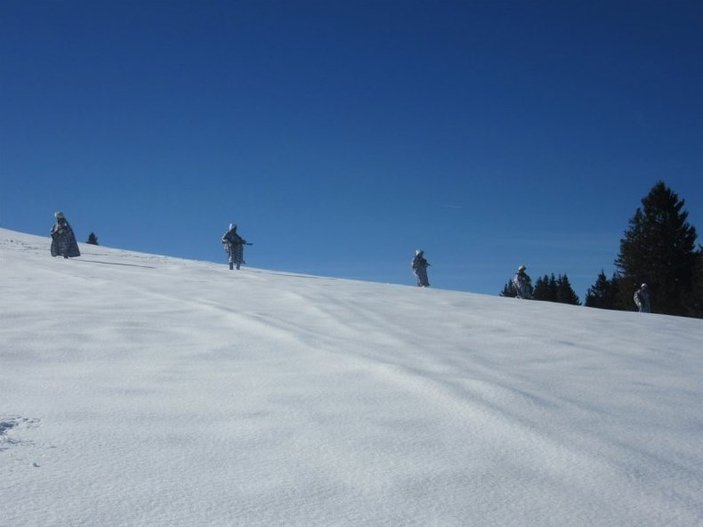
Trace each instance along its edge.
<path fill-rule="evenodd" d="M 412 284 L 422 248 L 435 287 L 524 263 L 582 300 L 658 180 L 703 235 L 700 1 L 4 0 L 0 25 L 5 228 L 60 209 L 226 270 L 235 222 L 254 267 Z"/>

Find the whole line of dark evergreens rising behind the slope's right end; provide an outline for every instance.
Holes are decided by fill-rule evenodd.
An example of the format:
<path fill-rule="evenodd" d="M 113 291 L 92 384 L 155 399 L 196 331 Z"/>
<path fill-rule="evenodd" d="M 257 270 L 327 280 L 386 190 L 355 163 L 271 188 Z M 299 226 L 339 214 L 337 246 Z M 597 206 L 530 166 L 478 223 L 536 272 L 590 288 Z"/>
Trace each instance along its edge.
<path fill-rule="evenodd" d="M 630 219 L 611 277 L 601 270 L 586 293 L 585 305 L 633 311 L 634 292 L 644 283 L 651 291 L 652 312 L 703 318 L 703 247 L 688 223 L 685 201 L 663 181 L 642 199 Z M 515 296 L 508 282 L 501 296 Z M 580 305 L 566 275 L 538 278 L 533 298 Z"/>

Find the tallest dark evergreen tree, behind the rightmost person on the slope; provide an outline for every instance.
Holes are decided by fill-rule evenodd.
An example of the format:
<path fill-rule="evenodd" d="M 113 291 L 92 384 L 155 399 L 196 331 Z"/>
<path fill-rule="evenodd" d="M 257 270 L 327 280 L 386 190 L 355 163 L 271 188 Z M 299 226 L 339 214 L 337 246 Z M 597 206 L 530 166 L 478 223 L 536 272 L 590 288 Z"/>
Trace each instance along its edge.
<path fill-rule="evenodd" d="M 688 224 L 684 200 L 663 182 L 642 199 L 620 240 L 615 261 L 621 279 L 619 302 L 634 309 L 632 294 L 649 285 L 656 313 L 685 315 L 691 306 L 696 266 L 696 230 Z"/>

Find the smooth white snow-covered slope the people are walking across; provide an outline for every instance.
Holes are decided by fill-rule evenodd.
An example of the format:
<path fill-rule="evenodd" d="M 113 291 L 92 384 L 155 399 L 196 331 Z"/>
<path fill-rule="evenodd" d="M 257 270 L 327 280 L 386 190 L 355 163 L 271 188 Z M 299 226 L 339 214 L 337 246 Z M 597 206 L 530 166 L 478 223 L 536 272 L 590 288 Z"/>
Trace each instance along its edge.
<path fill-rule="evenodd" d="M 2 525 L 703 525 L 701 320 L 49 243 L 0 229 Z"/>

